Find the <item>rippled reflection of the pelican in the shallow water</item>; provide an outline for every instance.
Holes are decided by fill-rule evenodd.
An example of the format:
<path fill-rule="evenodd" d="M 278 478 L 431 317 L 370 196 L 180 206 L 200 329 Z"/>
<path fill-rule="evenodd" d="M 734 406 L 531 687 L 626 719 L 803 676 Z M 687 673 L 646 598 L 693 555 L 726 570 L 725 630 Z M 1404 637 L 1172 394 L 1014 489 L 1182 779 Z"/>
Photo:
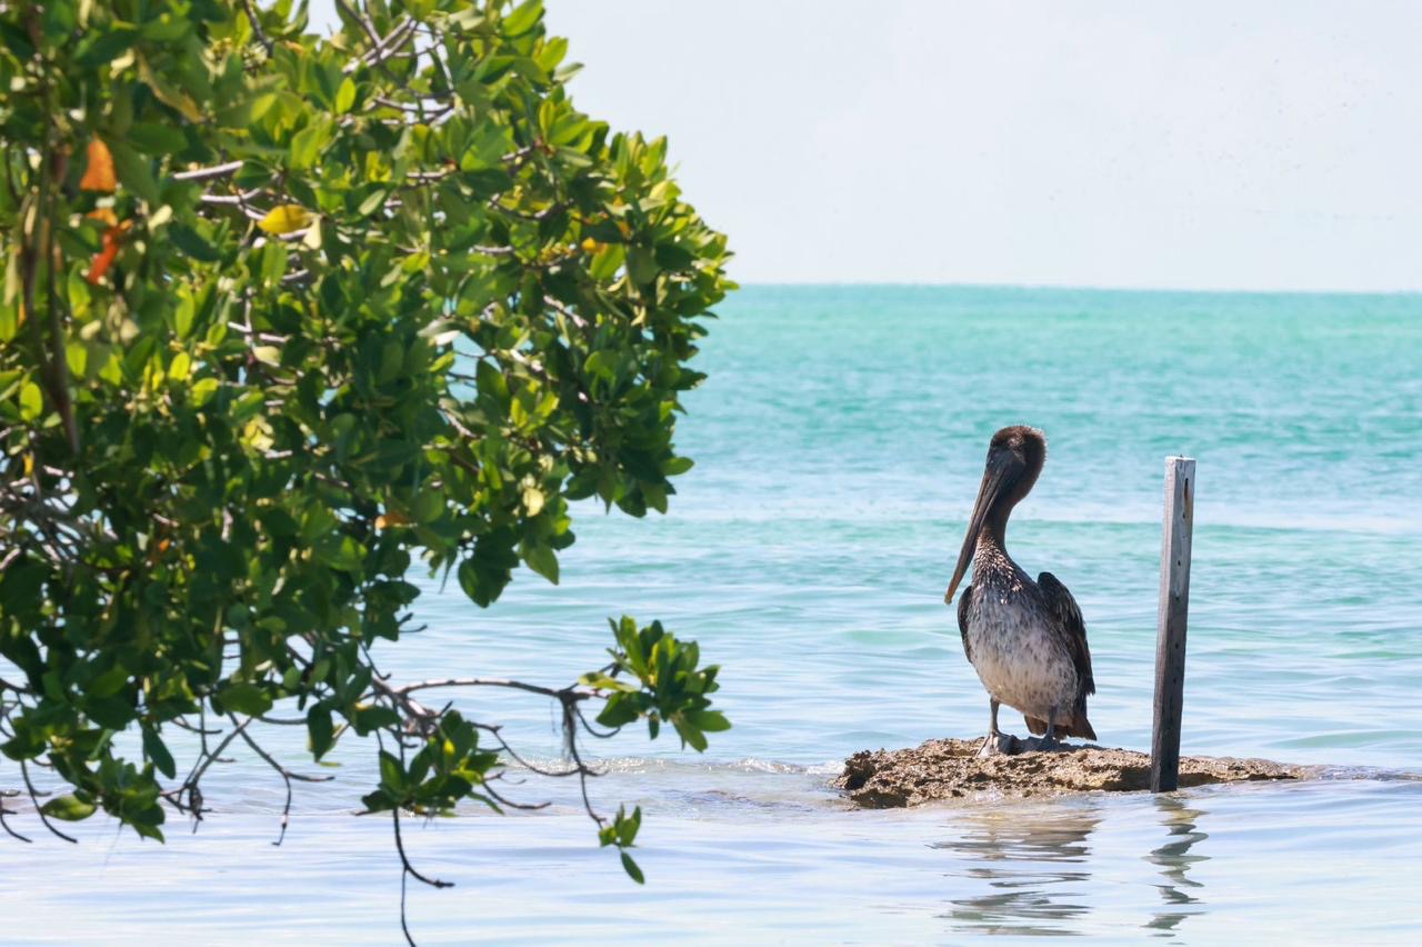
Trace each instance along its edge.
<path fill-rule="evenodd" d="M 1095 808 L 1055 810 L 985 809 L 964 813 L 957 839 L 934 843 L 968 862 L 967 877 L 990 893 L 957 899 L 947 917 L 985 934 L 1079 934 L 1072 921 L 1085 901 L 1086 836 L 1101 822 Z"/>

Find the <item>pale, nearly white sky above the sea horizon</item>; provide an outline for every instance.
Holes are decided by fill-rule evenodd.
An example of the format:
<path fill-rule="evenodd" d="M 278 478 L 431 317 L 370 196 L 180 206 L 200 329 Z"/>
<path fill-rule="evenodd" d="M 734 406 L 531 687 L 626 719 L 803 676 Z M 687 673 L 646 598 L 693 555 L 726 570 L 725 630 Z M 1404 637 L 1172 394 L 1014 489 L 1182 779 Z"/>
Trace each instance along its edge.
<path fill-rule="evenodd" d="M 1422 289 L 1422 3 L 547 6 L 741 282 Z"/>

